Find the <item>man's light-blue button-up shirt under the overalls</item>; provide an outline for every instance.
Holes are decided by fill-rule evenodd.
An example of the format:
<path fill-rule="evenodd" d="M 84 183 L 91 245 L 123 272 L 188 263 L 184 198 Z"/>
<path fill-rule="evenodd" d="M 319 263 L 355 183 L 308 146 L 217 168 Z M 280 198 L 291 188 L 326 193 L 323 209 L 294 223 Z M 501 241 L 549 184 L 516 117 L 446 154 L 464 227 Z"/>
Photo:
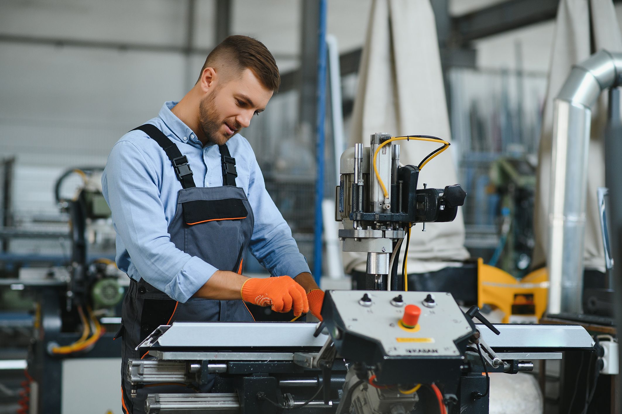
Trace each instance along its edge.
<path fill-rule="evenodd" d="M 170 111 L 175 104 L 164 103 L 158 116 L 147 122 L 164 132 L 188 158 L 197 186 L 223 185 L 218 145 L 203 147 L 192 129 Z M 236 134 L 227 146 L 236 160 L 236 185 L 244 189 L 253 208 L 251 253 L 273 276 L 309 272 L 289 226 L 266 191 L 248 140 Z M 164 150 L 147 134 L 131 131 L 114 144 L 101 185 L 117 232 L 116 263 L 129 277 L 142 277 L 183 303 L 218 270 L 170 241 L 168 227 L 182 186 Z"/>

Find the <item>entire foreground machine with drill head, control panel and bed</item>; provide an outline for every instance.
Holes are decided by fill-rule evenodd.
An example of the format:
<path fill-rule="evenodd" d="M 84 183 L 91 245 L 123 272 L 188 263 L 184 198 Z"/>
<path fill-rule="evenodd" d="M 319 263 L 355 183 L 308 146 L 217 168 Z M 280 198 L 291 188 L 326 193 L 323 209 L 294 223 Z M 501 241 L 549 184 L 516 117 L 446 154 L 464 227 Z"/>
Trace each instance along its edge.
<path fill-rule="evenodd" d="M 419 165 L 401 165 L 397 140 L 439 142 Z M 344 251 L 366 252 L 367 290 L 326 292 L 323 321 L 160 326 L 128 362 L 147 413 L 488 413 L 489 372 L 529 371 L 562 351 L 593 351 L 580 326 L 490 324 L 451 293 L 407 292 L 397 253 L 415 223 L 452 221 L 460 185 L 418 188 L 419 171 L 449 143 L 373 134 L 341 156 L 336 219 Z M 406 247 L 407 250 L 407 247 Z M 405 255 L 406 256 L 406 255 Z M 474 318 L 483 324 L 475 324 Z M 485 375 L 482 375 L 485 373 Z M 213 381 L 210 393 L 198 392 Z"/>

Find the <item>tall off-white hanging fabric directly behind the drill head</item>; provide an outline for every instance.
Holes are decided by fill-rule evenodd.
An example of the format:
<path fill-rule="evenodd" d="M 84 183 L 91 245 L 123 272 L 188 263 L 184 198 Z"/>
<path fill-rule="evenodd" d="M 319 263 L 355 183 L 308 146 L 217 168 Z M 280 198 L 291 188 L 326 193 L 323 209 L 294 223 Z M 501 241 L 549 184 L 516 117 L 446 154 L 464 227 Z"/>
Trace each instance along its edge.
<path fill-rule="evenodd" d="M 429 0 L 373 1 L 349 146 L 357 142 L 369 146 L 369 136 L 376 132 L 423 134 L 450 141 L 439 43 Z M 417 165 L 439 146 L 431 142 L 399 143 L 404 165 Z M 422 168 L 419 186 L 423 183 L 434 188 L 458 183 L 452 147 Z M 457 260 L 468 258 L 461 209 L 453 222 L 428 223 L 425 232 L 421 230 L 421 224 L 412 228 L 409 273 L 434 272 L 460 265 Z M 366 254 L 344 252 L 343 264 L 346 272 L 364 272 Z"/>

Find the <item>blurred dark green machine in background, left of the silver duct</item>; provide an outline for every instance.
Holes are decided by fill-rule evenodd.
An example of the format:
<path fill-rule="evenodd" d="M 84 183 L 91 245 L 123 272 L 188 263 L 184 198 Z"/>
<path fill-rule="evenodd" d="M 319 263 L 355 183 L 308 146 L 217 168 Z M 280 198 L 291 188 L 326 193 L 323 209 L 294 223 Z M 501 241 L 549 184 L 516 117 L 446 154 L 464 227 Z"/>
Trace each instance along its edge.
<path fill-rule="evenodd" d="M 499 244 L 488 264 L 517 278 L 531 266 L 536 160 L 501 157 L 490 166 L 491 191 L 499 195 Z"/>

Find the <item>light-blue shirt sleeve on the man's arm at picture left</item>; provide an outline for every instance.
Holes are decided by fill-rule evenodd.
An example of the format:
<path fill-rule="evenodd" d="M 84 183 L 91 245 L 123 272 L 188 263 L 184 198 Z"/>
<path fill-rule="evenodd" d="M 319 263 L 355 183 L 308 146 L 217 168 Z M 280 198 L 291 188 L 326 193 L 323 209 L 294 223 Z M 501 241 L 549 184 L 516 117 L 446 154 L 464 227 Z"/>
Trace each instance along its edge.
<path fill-rule="evenodd" d="M 218 270 L 170 241 L 156 168 L 132 142 L 114 145 L 102 187 L 118 237 L 146 282 L 184 303 Z"/>

